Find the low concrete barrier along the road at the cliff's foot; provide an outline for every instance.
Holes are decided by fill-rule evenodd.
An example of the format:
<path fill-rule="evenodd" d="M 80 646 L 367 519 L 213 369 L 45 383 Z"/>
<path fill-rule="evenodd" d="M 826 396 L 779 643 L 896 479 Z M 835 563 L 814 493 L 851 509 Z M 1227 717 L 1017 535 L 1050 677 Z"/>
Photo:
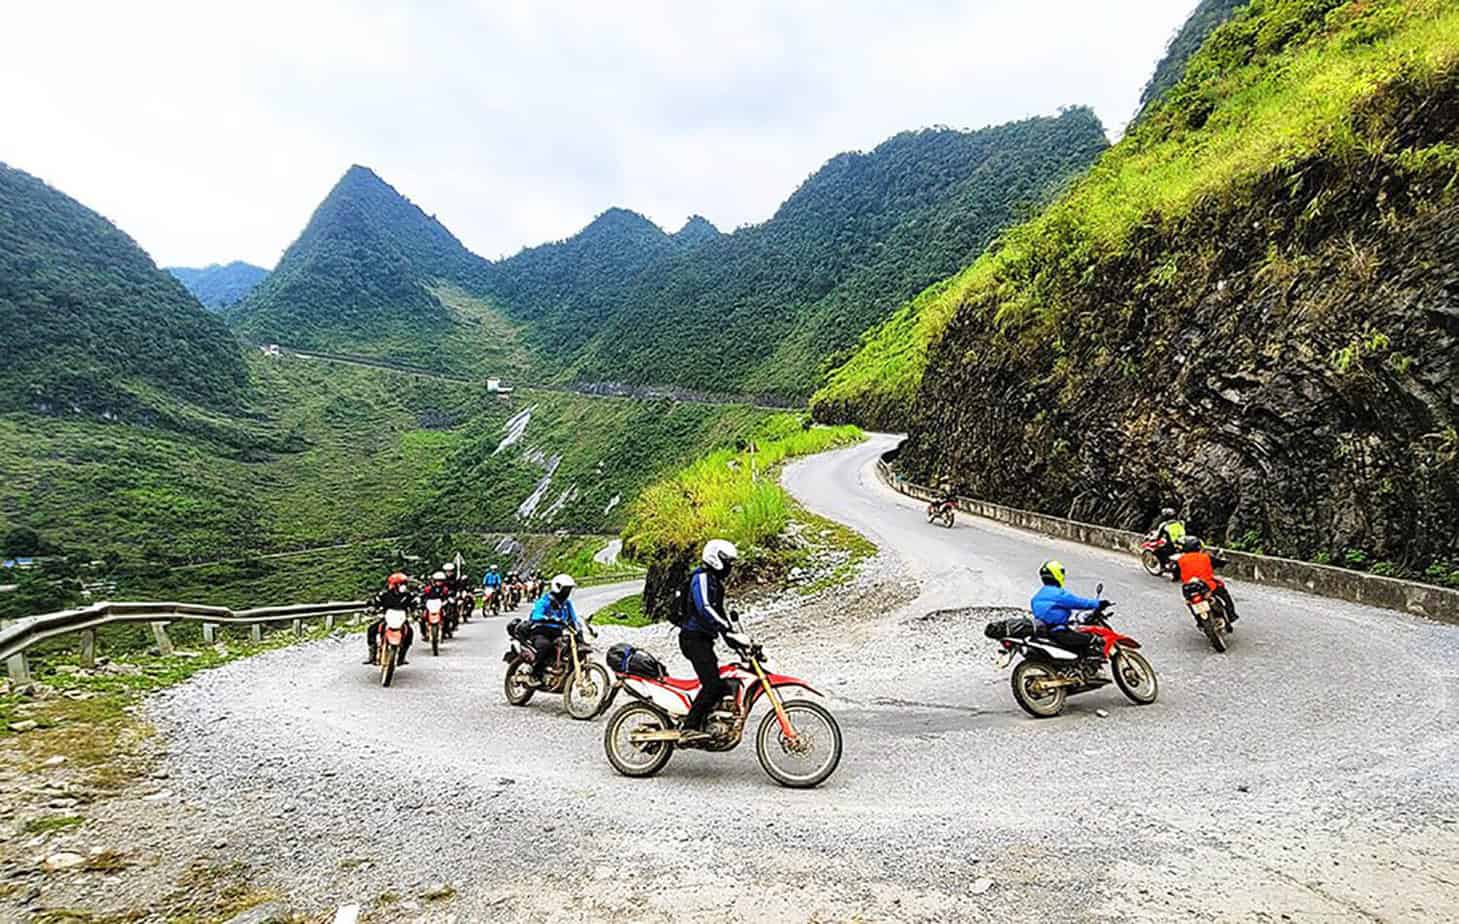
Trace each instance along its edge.
<path fill-rule="evenodd" d="M 881 458 L 877 460 L 877 474 L 893 490 L 905 493 L 909 498 L 918 498 L 919 501 L 931 501 L 934 496 L 931 488 L 915 485 L 903 479 L 893 469 L 900 450 L 902 447 L 896 447 L 881 454 Z M 1029 530 L 1030 533 L 1042 533 L 1116 552 L 1138 553 L 1139 543 L 1144 540 L 1142 534 L 1131 533 L 1129 530 L 1116 530 L 1091 523 L 1065 520 L 1064 517 L 1036 514 L 976 498 L 957 498 L 957 508 L 976 517 Z M 1221 556 L 1231 562 L 1226 568 L 1226 574 L 1242 581 L 1285 587 L 1288 590 L 1335 597 L 1385 610 L 1415 613 L 1428 619 L 1459 625 L 1459 591 L 1271 555 L 1252 555 L 1249 552 L 1223 549 Z"/>

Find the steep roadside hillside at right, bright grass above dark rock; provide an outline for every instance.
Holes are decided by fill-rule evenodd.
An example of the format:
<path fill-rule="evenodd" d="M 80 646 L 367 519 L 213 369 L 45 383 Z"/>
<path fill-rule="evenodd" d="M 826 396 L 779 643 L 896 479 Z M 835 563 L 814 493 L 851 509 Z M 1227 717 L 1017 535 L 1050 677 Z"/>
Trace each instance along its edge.
<path fill-rule="evenodd" d="M 925 298 L 907 474 L 1459 581 L 1459 6 L 1253 0 Z"/>

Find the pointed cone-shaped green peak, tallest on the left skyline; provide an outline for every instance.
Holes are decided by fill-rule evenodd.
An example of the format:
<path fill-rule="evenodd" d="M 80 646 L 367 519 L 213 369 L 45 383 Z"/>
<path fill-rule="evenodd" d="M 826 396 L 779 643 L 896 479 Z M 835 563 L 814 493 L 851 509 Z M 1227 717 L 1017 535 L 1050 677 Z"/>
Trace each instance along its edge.
<path fill-rule="evenodd" d="M 394 187 L 352 166 L 226 317 L 252 342 L 460 368 L 471 358 L 463 340 L 489 314 L 465 302 L 490 270 Z"/>

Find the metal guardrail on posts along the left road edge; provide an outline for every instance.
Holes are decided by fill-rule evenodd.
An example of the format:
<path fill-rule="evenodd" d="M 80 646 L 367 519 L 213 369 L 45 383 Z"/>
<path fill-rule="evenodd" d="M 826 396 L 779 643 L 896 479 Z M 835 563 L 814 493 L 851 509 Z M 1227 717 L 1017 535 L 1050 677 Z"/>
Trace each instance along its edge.
<path fill-rule="evenodd" d="M 263 626 L 267 623 L 292 622 L 295 632 L 299 634 L 303 631 L 305 619 L 322 617 L 325 625 L 333 628 L 336 616 L 360 613 L 365 606 L 362 600 L 347 600 L 231 610 L 197 603 L 96 603 L 77 610 L 6 620 L 4 626 L 0 628 L 0 660 L 6 661 L 10 679 L 23 683 L 31 677 L 25 658 L 26 650 L 73 632 L 80 634 L 82 666 L 93 667 L 96 664 L 96 629 L 107 625 L 147 623 L 152 626 L 158 651 L 172 654 L 172 641 L 166 632 L 169 622 L 203 623 L 203 641 L 209 644 L 219 626 L 249 626 L 254 641 L 261 641 Z"/>

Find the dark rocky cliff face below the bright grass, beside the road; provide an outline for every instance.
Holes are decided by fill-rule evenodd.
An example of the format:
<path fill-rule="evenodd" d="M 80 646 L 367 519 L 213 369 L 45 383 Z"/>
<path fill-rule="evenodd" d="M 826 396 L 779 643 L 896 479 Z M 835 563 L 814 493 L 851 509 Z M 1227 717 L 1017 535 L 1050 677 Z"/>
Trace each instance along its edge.
<path fill-rule="evenodd" d="M 1131 528 L 1170 502 L 1217 542 L 1452 580 L 1459 80 L 1354 136 L 1055 283 L 1053 326 L 964 305 L 907 474 Z"/>

